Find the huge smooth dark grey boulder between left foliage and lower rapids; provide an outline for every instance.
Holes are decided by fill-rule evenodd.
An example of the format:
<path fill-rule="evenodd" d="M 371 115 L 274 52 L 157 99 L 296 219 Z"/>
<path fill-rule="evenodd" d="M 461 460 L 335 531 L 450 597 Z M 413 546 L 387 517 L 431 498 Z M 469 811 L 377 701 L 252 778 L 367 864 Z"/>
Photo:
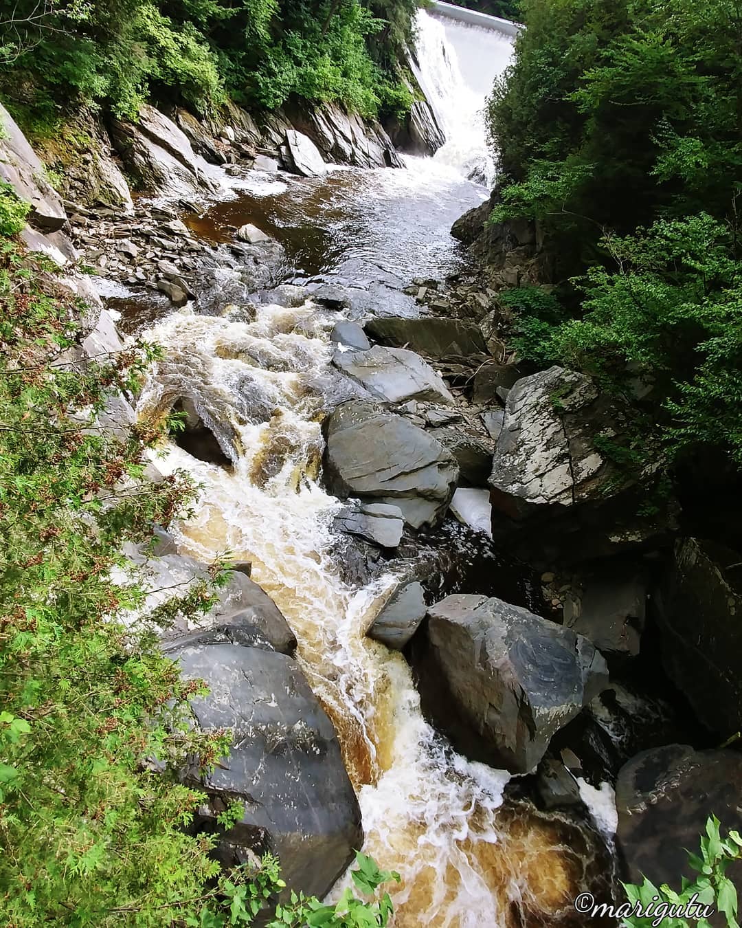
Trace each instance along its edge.
<path fill-rule="evenodd" d="M 226 729 L 232 740 L 211 773 L 186 771 L 207 794 L 196 830 L 220 835 L 217 856 L 225 867 L 245 862 L 250 851 L 271 851 L 292 889 L 325 896 L 364 834 L 335 729 L 299 664 L 218 630 L 165 650 L 186 678 L 209 687 L 208 696 L 191 701 L 199 728 Z M 216 819 L 234 800 L 244 814 L 224 833 Z"/>

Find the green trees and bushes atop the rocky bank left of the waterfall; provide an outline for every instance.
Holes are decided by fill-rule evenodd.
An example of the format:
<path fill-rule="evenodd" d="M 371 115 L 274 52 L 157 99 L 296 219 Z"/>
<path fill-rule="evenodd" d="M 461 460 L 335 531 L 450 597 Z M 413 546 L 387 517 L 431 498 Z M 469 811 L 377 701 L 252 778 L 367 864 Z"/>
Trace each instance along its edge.
<path fill-rule="evenodd" d="M 32 0 L 19 0 L 13 22 L 0 23 L 0 87 L 12 102 L 22 75 L 17 103 L 45 122 L 70 89 L 130 118 L 148 97 L 204 111 L 227 92 L 269 110 L 303 97 L 366 116 L 406 111 L 399 66 L 415 8 L 416 0 L 75 0 L 35 16 Z"/>

